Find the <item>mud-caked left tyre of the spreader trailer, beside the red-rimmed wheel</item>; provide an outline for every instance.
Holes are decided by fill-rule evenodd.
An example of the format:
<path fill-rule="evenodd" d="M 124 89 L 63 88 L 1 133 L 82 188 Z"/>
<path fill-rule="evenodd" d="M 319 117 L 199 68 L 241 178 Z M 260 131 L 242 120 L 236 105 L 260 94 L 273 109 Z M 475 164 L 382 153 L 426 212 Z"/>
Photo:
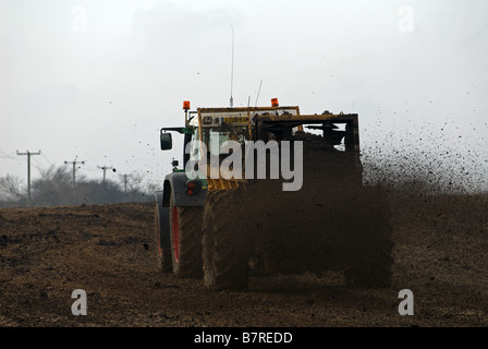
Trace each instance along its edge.
<path fill-rule="evenodd" d="M 252 244 L 240 224 L 242 206 L 233 202 L 232 194 L 209 193 L 204 209 L 204 282 L 216 291 L 246 291 L 248 287 Z"/>

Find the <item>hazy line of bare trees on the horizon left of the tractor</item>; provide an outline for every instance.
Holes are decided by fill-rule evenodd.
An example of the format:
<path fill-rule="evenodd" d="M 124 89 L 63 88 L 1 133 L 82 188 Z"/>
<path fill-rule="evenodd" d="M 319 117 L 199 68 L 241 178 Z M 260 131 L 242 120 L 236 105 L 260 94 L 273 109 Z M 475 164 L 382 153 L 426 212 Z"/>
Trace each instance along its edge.
<path fill-rule="evenodd" d="M 148 202 L 152 190 L 141 188 L 142 177 L 132 176 L 124 184 L 111 180 L 99 182 L 76 177 L 73 185 L 71 171 L 65 167 L 50 167 L 30 183 L 30 206 L 101 205 L 124 202 Z M 27 185 L 13 176 L 0 178 L 0 206 L 27 205 Z"/>

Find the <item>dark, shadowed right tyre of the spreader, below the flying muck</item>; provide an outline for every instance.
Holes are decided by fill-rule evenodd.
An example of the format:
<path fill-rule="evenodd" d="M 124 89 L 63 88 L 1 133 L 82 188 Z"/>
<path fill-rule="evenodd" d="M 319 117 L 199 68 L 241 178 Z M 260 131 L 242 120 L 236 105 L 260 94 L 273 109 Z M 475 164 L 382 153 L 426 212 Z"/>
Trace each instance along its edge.
<path fill-rule="evenodd" d="M 352 265 L 344 273 L 350 288 L 388 288 L 393 263 L 388 197 L 380 189 L 369 189 L 358 201 L 354 219 L 359 225 L 354 241 Z"/>

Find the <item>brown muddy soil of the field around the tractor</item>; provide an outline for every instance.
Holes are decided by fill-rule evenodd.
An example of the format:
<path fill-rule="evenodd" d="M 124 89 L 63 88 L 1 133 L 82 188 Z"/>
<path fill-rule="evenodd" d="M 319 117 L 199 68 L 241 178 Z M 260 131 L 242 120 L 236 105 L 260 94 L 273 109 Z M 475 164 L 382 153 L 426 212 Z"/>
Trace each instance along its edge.
<path fill-rule="evenodd" d="M 154 204 L 0 209 L 0 326 L 488 326 L 488 195 L 390 197 L 393 284 L 253 276 L 247 292 L 159 273 Z M 87 293 L 74 316 L 72 291 Z M 399 291 L 414 315 L 399 314 Z"/>

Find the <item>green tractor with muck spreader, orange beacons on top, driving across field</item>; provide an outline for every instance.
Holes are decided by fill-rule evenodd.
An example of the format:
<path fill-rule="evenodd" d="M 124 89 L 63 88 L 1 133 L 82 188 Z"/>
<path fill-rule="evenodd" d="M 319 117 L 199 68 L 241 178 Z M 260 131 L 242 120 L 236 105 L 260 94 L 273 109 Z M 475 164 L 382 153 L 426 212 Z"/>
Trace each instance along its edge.
<path fill-rule="evenodd" d="M 155 193 L 162 272 L 211 290 L 247 290 L 253 273 L 338 270 L 347 287 L 390 285 L 388 197 L 363 184 L 357 113 L 301 115 L 276 98 L 183 109 L 183 127 L 160 130 L 162 151 L 173 132 L 184 140 L 181 166 Z"/>

